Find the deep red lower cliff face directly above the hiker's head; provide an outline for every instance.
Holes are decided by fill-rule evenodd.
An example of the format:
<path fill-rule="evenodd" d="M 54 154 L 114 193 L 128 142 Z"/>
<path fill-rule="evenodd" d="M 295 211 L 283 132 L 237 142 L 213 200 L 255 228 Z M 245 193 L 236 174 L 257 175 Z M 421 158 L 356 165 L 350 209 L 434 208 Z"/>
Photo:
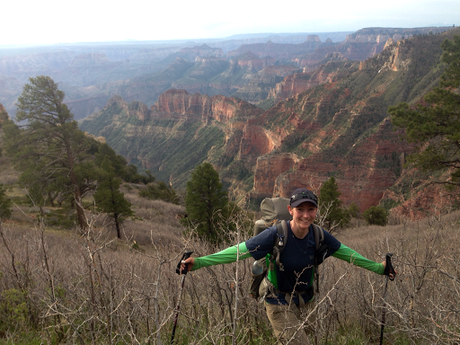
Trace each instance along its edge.
<path fill-rule="evenodd" d="M 351 154 L 353 160 L 343 157 L 339 161 L 331 161 L 327 153 L 321 151 L 303 159 L 295 155 L 273 153 L 259 157 L 252 195 L 288 196 L 298 187 L 308 187 L 319 192 L 321 184 L 331 176 L 331 172 L 340 171 L 336 180 L 344 205 L 355 202 L 361 211 L 377 205 L 384 192 L 395 183 L 394 173 L 385 168 L 382 161 L 411 150 L 411 147 L 401 143 L 399 133 L 392 131 L 389 121 L 382 123 L 379 128 L 375 135 L 356 146 Z M 324 131 L 317 131 L 310 149 L 315 150 L 314 142 L 321 141 L 320 138 L 324 136 Z"/>

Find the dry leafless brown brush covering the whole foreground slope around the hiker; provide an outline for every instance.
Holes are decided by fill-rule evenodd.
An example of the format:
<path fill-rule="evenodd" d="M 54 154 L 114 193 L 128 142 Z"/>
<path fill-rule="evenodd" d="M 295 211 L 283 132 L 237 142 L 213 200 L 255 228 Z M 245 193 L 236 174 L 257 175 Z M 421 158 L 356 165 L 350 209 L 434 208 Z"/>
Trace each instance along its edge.
<path fill-rule="evenodd" d="M 137 218 L 125 223 L 123 240 L 97 215 L 85 236 L 39 223 L 2 224 L 0 336 L 18 342 L 24 332 L 35 333 L 47 344 L 169 342 L 179 256 L 185 249 L 201 256 L 223 247 L 184 237 L 176 218 L 183 207 L 125 193 Z M 394 253 L 398 276 L 388 283 L 385 343 L 460 343 L 459 217 L 357 226 L 337 235 L 375 261 Z M 248 296 L 251 264 L 187 275 L 177 344 L 275 344 L 263 306 Z M 315 311 L 318 343 L 352 343 L 356 330 L 353 344 L 378 343 L 384 283 L 382 276 L 329 258 L 321 266 Z"/>

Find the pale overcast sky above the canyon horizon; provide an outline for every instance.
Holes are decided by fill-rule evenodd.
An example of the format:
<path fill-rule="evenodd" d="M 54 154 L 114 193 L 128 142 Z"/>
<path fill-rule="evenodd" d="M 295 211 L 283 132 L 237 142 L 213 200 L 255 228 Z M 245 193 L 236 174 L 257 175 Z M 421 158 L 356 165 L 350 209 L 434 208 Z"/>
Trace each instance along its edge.
<path fill-rule="evenodd" d="M 459 0 L 5 0 L 0 46 L 460 25 Z"/>

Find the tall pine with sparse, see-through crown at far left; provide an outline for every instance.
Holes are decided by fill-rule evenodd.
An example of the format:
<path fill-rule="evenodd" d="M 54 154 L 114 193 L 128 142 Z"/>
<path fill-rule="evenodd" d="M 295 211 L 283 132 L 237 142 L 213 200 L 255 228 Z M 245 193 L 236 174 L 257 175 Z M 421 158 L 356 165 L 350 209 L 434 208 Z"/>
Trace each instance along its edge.
<path fill-rule="evenodd" d="M 90 170 L 84 170 L 84 177 L 77 172 L 88 158 L 90 144 L 64 97 L 50 77 L 29 78 L 17 102 L 16 119 L 23 125 L 4 125 L 5 142 L 15 167 L 23 172 L 22 182 L 35 189 L 32 194 L 72 195 L 78 224 L 86 229 L 82 193 L 91 189 Z"/>

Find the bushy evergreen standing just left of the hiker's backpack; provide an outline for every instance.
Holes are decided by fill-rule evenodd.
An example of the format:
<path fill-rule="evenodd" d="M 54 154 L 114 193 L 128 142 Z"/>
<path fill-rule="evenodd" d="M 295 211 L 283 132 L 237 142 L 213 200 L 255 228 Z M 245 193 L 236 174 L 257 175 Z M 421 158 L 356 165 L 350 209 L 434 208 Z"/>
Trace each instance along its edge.
<path fill-rule="evenodd" d="M 196 226 L 198 235 L 208 241 L 220 242 L 225 234 L 219 231 L 218 224 L 227 204 L 227 192 L 223 190 L 219 173 L 210 163 L 198 165 L 187 182 L 185 223 Z"/>

